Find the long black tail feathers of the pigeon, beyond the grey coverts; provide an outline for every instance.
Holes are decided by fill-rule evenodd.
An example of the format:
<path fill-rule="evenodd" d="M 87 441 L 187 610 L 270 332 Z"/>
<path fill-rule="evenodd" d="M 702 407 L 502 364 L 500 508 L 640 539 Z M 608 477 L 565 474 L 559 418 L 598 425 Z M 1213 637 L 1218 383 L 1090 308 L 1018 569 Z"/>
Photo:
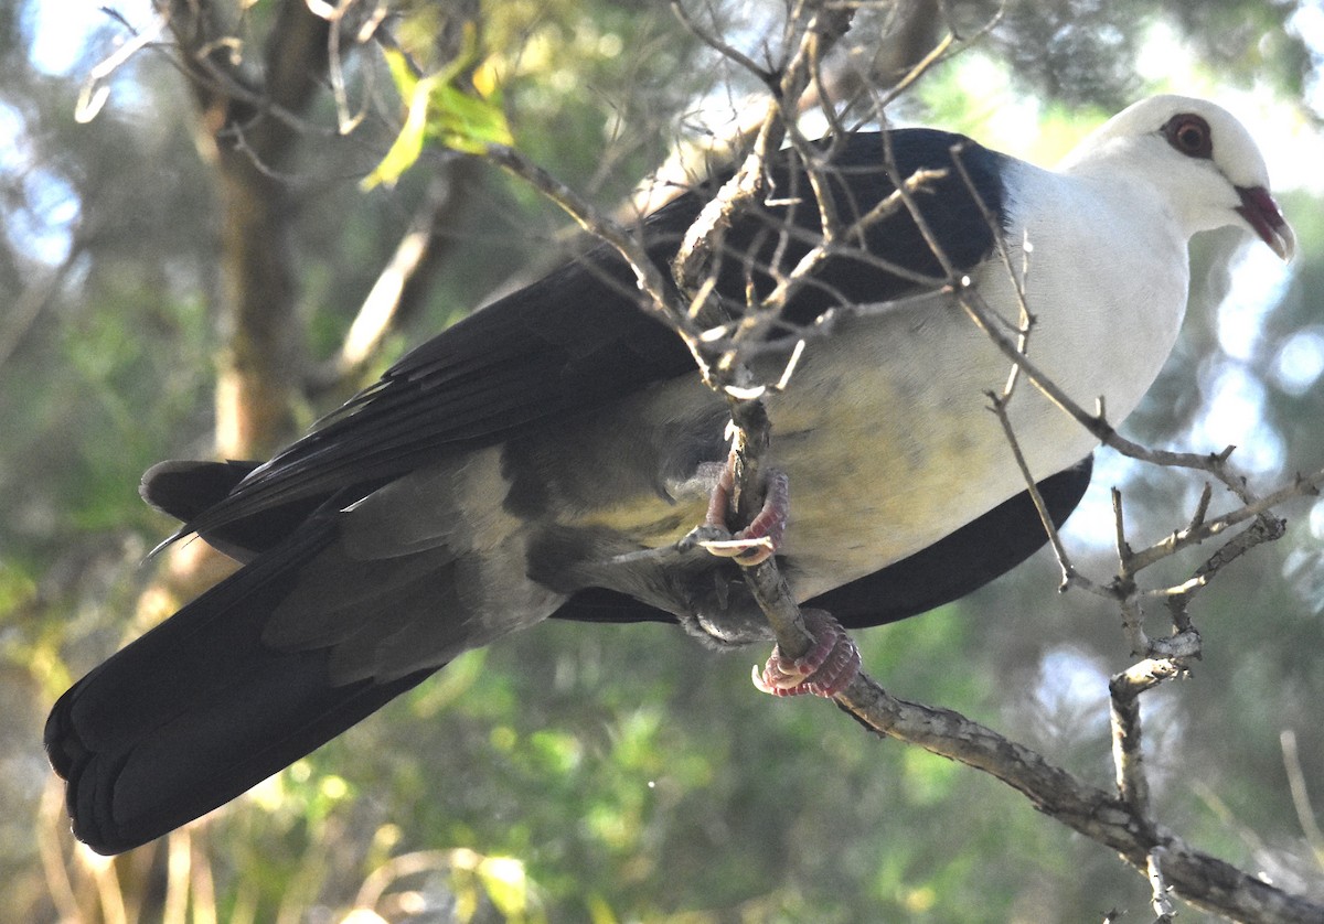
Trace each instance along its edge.
<path fill-rule="evenodd" d="M 262 642 L 298 572 L 335 539 L 301 530 L 71 687 L 46 720 L 74 834 L 118 854 L 224 805 L 420 683 L 335 686 L 326 650 Z"/>

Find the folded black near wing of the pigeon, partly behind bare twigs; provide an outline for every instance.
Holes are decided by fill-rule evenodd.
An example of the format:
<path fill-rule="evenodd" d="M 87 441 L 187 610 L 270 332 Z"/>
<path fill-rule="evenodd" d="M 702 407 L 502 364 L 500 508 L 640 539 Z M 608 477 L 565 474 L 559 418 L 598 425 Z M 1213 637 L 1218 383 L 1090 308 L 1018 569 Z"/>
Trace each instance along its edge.
<path fill-rule="evenodd" d="M 965 175 L 953 167 L 957 147 Z M 861 234 L 838 241 L 788 303 L 788 326 L 809 324 L 831 307 L 900 298 L 924 287 L 920 279 L 940 279 L 931 240 L 961 271 L 992 252 L 996 232 L 985 209 L 1000 214 L 1000 155 L 960 135 L 910 128 L 853 135 L 829 156 L 822 175 L 841 226 L 884 201 L 894 176 L 939 175 L 914 191 L 925 226 L 895 201 Z M 702 205 L 698 193 L 687 193 L 646 220 L 643 240 L 665 274 Z M 773 285 L 768 267 L 789 271 L 818 244 L 821 224 L 805 173 L 779 163 L 765 201 L 739 214 L 724 236 L 715 269 L 719 295 L 739 310 L 749 289 L 767 293 Z M 189 518 L 181 533 L 205 533 L 298 502 L 315 507 L 352 486 L 365 495 L 429 461 L 499 443 L 532 422 L 584 413 L 694 369 L 679 338 L 638 307 L 633 271 L 600 246 L 420 346 L 323 426 Z"/>

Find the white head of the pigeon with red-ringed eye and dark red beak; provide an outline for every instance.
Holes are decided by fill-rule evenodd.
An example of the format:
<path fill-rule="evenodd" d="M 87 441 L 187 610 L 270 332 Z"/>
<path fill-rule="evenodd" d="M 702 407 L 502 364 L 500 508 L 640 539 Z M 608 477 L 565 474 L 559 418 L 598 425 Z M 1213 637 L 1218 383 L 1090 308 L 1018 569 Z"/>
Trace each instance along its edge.
<path fill-rule="evenodd" d="M 1141 99 L 1090 134 L 1058 169 L 1149 183 L 1188 236 L 1235 225 L 1283 259 L 1296 250 L 1296 236 L 1268 192 L 1259 147 L 1231 113 L 1206 99 Z"/>

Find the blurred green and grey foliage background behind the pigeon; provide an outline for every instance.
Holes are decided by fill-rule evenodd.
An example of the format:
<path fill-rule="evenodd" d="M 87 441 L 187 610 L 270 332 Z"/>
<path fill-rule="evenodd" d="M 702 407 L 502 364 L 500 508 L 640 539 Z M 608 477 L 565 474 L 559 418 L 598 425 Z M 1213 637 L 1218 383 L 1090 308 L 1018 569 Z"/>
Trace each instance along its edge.
<path fill-rule="evenodd" d="M 244 34 L 261 40 L 277 5 L 241 4 Z M 747 674 L 764 651 L 720 657 L 662 626 L 542 626 L 461 658 L 168 843 L 114 863 L 73 847 L 41 724 L 71 679 L 159 609 L 144 600 L 158 571 L 144 556 L 169 524 L 136 482 L 162 458 L 212 451 L 225 331 L 214 189 L 168 50 L 135 56 L 110 78 L 103 111 L 74 119 L 91 69 L 130 28 L 152 26 L 151 7 L 58 8 L 0 7 L 5 920 L 977 923 L 1100 920 L 1113 908 L 1147 919 L 1140 878 L 1016 793 L 879 741 L 826 703 L 771 702 Z M 604 208 L 678 139 L 720 135 L 751 89 L 662 4 L 461 8 L 479 25 L 516 143 Z M 953 8 L 967 30 L 993 11 Z M 453 28 L 448 9 L 414 0 L 392 20 L 432 69 L 446 64 L 425 52 Z M 784 16 L 771 0 L 694 9 L 756 57 Z M 876 54 L 891 25 L 882 5 L 862 13 L 839 53 Z M 1299 259 L 1282 270 L 1235 236 L 1197 241 L 1182 344 L 1125 429 L 1178 447 L 1239 443 L 1258 485 L 1324 465 L 1321 53 L 1313 3 L 1012 3 L 985 41 L 892 110 L 1046 162 L 1145 93 L 1210 95 L 1242 114 Z M 428 175 L 425 158 L 395 189 L 359 188 L 400 105 L 379 54 L 347 61 L 348 86 L 368 99 L 360 130 L 336 135 L 323 94 L 310 119 L 330 128 L 283 168 L 310 367 L 344 336 Z M 528 189 L 474 164 L 448 169 L 462 195 L 444 259 L 373 371 L 534 278 L 568 240 Z M 1234 274 L 1211 269 L 1234 252 Z M 310 392 L 302 417 L 332 404 Z M 1140 540 L 1182 524 L 1201 486 L 1106 455 L 1095 481 L 1068 537 L 1100 575 L 1111 485 L 1124 487 Z M 1324 855 L 1303 834 L 1282 736 L 1295 736 L 1319 819 L 1324 506 L 1287 514 L 1286 539 L 1200 598 L 1205 658 L 1147 700 L 1148 735 L 1164 823 L 1320 899 Z M 865 662 L 892 692 L 965 712 L 1108 786 L 1107 675 L 1128 662 L 1119 618 L 1054 588 L 1055 567 L 1038 557 L 960 604 L 863 634 Z"/>

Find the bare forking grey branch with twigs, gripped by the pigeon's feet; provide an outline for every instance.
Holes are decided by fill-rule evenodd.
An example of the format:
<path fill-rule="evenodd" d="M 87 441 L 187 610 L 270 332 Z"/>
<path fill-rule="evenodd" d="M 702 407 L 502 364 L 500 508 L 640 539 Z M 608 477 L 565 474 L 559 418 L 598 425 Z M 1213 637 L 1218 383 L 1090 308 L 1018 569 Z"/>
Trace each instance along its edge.
<path fill-rule="evenodd" d="M 682 19 L 683 11 L 681 11 Z M 688 21 L 688 20 L 686 20 Z M 846 20 L 849 24 L 849 19 Z M 692 28 L 692 23 L 690 23 Z M 806 32 L 805 36 L 810 36 Z M 804 38 L 804 37 L 802 37 Z M 810 40 L 812 38 L 812 40 Z M 733 455 L 736 458 L 736 481 L 739 488 L 733 492 L 737 499 L 735 511 L 737 522 L 747 520 L 757 506 L 759 466 L 763 450 L 767 447 L 771 434 L 768 432 L 767 416 L 757 397 L 768 387 L 785 387 L 789 369 L 786 365 L 776 383 L 757 383 L 749 375 L 747 363 L 751 356 L 757 355 L 761 339 L 772 324 L 780 323 L 780 310 L 796 294 L 797 289 L 812 283 L 812 274 L 824 259 L 850 249 L 851 257 L 869 262 L 870 255 L 862 252 L 859 240 L 863 229 L 873 221 L 882 220 L 904 205 L 915 217 L 916 225 L 933 249 L 945 279 L 937 281 L 945 285 L 945 293 L 955 303 L 961 306 L 967 314 L 977 323 L 985 334 L 993 339 L 1000 349 L 1009 357 L 1014 372 L 1009 376 L 1001 396 L 992 396 L 993 410 L 1004 422 L 1004 432 L 1009 445 L 1013 446 L 1021 466 L 1022 475 L 1031 496 L 1034 494 L 1034 478 L 1029 471 L 1023 454 L 1018 451 L 1016 434 L 1006 420 L 1005 402 L 1016 387 L 1017 376 L 1025 377 L 1050 401 L 1080 422 L 1091 434 L 1106 445 L 1123 451 L 1127 455 L 1156 465 L 1178 465 L 1210 473 L 1221 483 L 1226 485 L 1238 498 L 1242 507 L 1219 518 L 1209 519 L 1209 496 L 1201 500 L 1196 515 L 1186 530 L 1174 533 L 1162 551 L 1144 549 L 1132 552 L 1125 540 L 1121 499 L 1116 496 L 1117 522 L 1117 551 L 1120 573 L 1117 580 L 1108 585 L 1090 581 L 1075 572 L 1066 549 L 1057 537 L 1051 518 L 1047 516 L 1042 498 L 1037 498 L 1037 506 L 1045 520 L 1045 528 L 1059 555 L 1063 568 L 1064 581 L 1091 589 L 1095 593 L 1119 601 L 1128 631 L 1136 646 L 1137 654 L 1161 655 L 1145 657 L 1144 661 L 1132 666 L 1127 671 L 1112 678 L 1110 684 L 1113 700 L 1113 727 L 1115 752 L 1117 773 L 1117 794 L 1112 796 L 1102 790 L 1087 786 L 1082 781 L 1070 776 L 1064 770 L 1050 765 L 1042 756 L 1027 748 L 1010 741 L 996 732 L 970 723 L 963 716 L 945 710 L 906 703 L 890 696 L 886 691 L 874 684 L 867 676 L 857 676 L 851 686 L 838 696 L 838 702 L 866 725 L 875 731 L 906 740 L 923 747 L 933 753 L 939 753 L 953 760 L 959 760 L 969 766 L 988 772 L 1008 785 L 1025 794 L 1038 809 L 1051 814 L 1074 830 L 1082 831 L 1095 841 L 1121 853 L 1129 863 L 1145 874 L 1153 890 L 1153 905 L 1156 913 L 1162 919 L 1172 913 L 1169 891 L 1182 895 L 1188 900 L 1221 913 L 1230 913 L 1247 919 L 1272 919 L 1284 921 L 1315 921 L 1324 916 L 1324 908 L 1313 905 L 1303 899 L 1287 895 L 1280 890 L 1243 874 L 1227 864 L 1200 854 L 1188 847 L 1173 833 L 1158 826 L 1149 817 L 1149 785 L 1144 772 L 1144 756 L 1141 749 L 1141 725 L 1139 696 L 1144 691 L 1157 686 L 1160 682 L 1180 676 L 1184 670 L 1184 661 L 1198 657 L 1198 634 L 1193 629 L 1178 625 L 1178 631 L 1170 638 L 1151 641 L 1144 635 L 1141 626 L 1143 613 L 1140 602 L 1147 593 L 1141 592 L 1135 582 L 1135 573 L 1141 568 L 1170 555 L 1168 549 L 1184 548 L 1201 539 L 1218 535 L 1219 532 L 1260 516 L 1268 510 L 1271 503 L 1279 503 L 1286 496 L 1303 492 L 1316 483 L 1312 478 L 1324 482 L 1324 473 L 1317 477 L 1300 479 L 1291 491 L 1279 491 L 1264 499 L 1254 498 L 1245 483 L 1226 466 L 1226 454 L 1221 457 L 1193 455 L 1180 453 L 1161 453 L 1140 447 L 1119 437 L 1108 424 L 1102 404 L 1096 413 L 1087 413 L 1047 379 L 1027 356 L 1029 338 L 1033 330 L 1033 314 L 1023 298 L 1023 286 L 1027 273 L 1027 263 L 1017 267 L 1012 259 L 1012 253 L 1006 242 L 998 242 L 1004 269 L 1016 282 L 1018 293 L 1019 320 L 1013 323 L 998 316 L 985 304 L 974 283 L 959 274 L 952 262 L 943 253 L 936 237 L 923 220 L 914 200 L 914 192 L 920 188 L 925 177 L 902 177 L 895 175 L 895 165 L 891 167 L 892 180 L 896 187 L 894 199 L 879 204 L 862 218 L 857 218 L 853 225 L 843 226 L 841 216 L 837 214 L 830 196 L 830 187 L 826 169 L 830 169 L 830 158 L 821 148 L 804 143 L 793 127 L 788 126 L 786 113 L 797 111 L 794 94 L 804 91 L 805 86 L 814 82 L 821 56 L 825 45 L 830 44 L 830 34 L 813 34 L 804 38 L 793 53 L 786 56 L 788 65 L 780 71 L 755 65 L 749 58 L 739 53 L 728 54 L 728 58 L 740 66 L 745 66 L 756 77 L 763 79 L 772 90 L 772 99 L 760 124 L 759 132 L 752 144 L 751 154 L 745 158 L 740 168 L 722 187 L 718 195 L 710 201 L 699 216 L 699 220 L 690 228 L 681 246 L 678 259 L 674 265 L 673 278 L 678 283 L 681 298 L 661 278 L 661 273 L 649 261 L 642 244 L 629 234 L 622 226 L 610 222 L 587 207 L 572 191 L 563 184 L 548 177 L 524 162 L 518 152 L 504 148 L 491 148 L 491 159 L 511 172 L 531 181 L 535 188 L 548 195 L 561 205 L 584 228 L 602 240 L 608 241 L 630 265 L 638 277 L 642 295 L 641 304 L 649 311 L 662 312 L 681 332 L 691 352 L 695 353 L 700 368 L 708 377 L 710 384 L 732 398 L 732 420 L 737 425 L 737 436 L 733 441 Z M 720 40 L 708 42 L 711 48 L 727 54 L 728 49 Z M 943 48 L 945 52 L 947 46 Z M 932 56 L 932 57 L 940 57 Z M 798 69 L 798 70 L 797 70 Z M 707 324 L 708 300 L 715 293 L 715 266 L 723 258 L 722 237 L 724 229 L 733 220 L 736 213 L 757 201 L 759 196 L 767 193 L 767 164 L 768 156 L 780 146 L 784 138 L 798 152 L 805 172 L 809 176 L 809 188 L 817 200 L 820 228 L 817 240 L 809 244 L 809 249 L 796 266 L 786 271 L 779 269 L 780 262 L 773 257 L 767 269 L 775 285 L 772 293 L 755 299 L 747 299 L 749 304 L 745 316 L 731 320 L 719 319 L 719 323 Z M 829 148 L 830 151 L 830 148 Z M 957 152 L 959 154 L 959 152 Z M 967 184 L 973 185 L 969 176 L 961 167 L 960 158 L 956 156 L 956 168 L 965 176 Z M 779 195 L 781 191 L 777 191 Z M 792 191 L 794 195 L 794 191 Z M 786 200 L 788 204 L 790 200 Z M 982 207 L 982 204 L 981 204 Z M 993 216 L 984 208 L 985 218 L 994 226 Z M 790 222 L 777 228 L 775 245 L 781 254 L 786 242 L 797 236 L 812 234 L 812 232 L 796 228 Z M 1001 236 L 998 234 L 998 238 Z M 804 238 L 802 238 L 804 240 Z M 853 249 L 851 249 L 853 248 Z M 1027 250 L 1027 248 L 1023 248 Z M 748 273 L 753 270 L 752 257 L 737 257 L 747 262 Z M 880 262 L 880 261 L 879 261 Z M 894 267 L 887 267 L 892 270 Z M 896 275 L 904 277 L 902 267 L 895 267 Z M 933 281 L 925 279 L 932 283 Z M 751 287 L 752 291 L 752 287 Z M 681 310 L 678 306 L 686 306 Z M 842 307 L 839 312 L 858 311 L 858 307 Z M 760 314 L 761 312 L 761 314 Z M 833 318 L 821 318 L 813 330 L 804 331 L 804 338 L 826 332 Z M 1245 543 L 1243 543 L 1245 544 Z M 1246 545 L 1249 547 L 1249 545 Z M 1217 571 L 1225 560 L 1242 553 L 1242 547 L 1225 547 L 1211 559 L 1210 568 Z M 1241 549 L 1241 551 L 1238 551 Z M 675 549 L 658 549 L 647 555 L 674 555 Z M 769 622 L 777 635 L 779 646 L 789 657 L 804 651 L 809 638 L 804 633 L 796 606 L 785 581 L 779 573 L 775 560 L 768 560 L 753 568 L 745 569 L 745 578 L 751 593 L 768 614 Z M 1169 588 L 1162 593 L 1169 598 L 1184 601 L 1190 593 L 1202 586 L 1207 580 L 1206 575 L 1197 575 L 1197 584 Z"/>

